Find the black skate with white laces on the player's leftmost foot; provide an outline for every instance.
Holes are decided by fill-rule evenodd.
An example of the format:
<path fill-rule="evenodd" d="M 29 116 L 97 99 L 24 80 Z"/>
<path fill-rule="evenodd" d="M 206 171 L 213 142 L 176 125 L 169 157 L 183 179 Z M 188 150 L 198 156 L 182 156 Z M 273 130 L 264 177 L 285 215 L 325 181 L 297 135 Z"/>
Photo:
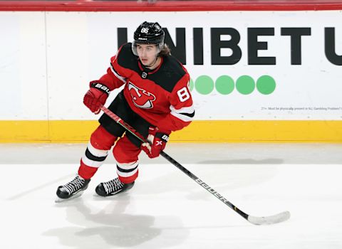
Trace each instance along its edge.
<path fill-rule="evenodd" d="M 88 188 L 89 181 L 90 179 L 86 180 L 77 175 L 75 179 L 73 179 L 73 181 L 70 181 L 68 184 L 58 186 L 56 194 L 60 199 L 57 199 L 56 202 L 65 201 L 67 199 L 81 196 L 81 194 L 83 194 L 83 191 Z"/>

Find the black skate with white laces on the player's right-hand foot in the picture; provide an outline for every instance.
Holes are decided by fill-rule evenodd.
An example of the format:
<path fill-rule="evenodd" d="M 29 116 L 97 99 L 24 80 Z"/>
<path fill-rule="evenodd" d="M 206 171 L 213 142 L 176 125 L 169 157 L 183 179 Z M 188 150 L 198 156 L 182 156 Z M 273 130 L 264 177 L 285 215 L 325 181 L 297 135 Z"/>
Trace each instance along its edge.
<path fill-rule="evenodd" d="M 134 185 L 134 181 L 130 184 L 123 184 L 118 178 L 115 178 L 110 181 L 101 182 L 96 187 L 95 191 L 96 194 L 99 196 L 114 196 L 115 194 L 119 194 L 125 191 L 128 191 L 128 189 L 132 189 Z"/>

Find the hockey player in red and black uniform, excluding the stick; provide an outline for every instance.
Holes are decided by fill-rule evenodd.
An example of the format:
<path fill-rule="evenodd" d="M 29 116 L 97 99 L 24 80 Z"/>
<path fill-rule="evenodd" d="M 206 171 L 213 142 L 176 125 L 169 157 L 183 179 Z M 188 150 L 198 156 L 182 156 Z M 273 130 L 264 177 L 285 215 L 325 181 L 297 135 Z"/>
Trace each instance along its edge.
<path fill-rule="evenodd" d="M 164 37 L 165 32 L 159 23 L 141 23 L 134 33 L 133 43 L 126 43 L 118 49 L 118 53 L 110 58 L 107 73 L 90 82 L 90 89 L 83 99 L 84 105 L 98 114 L 110 91 L 124 85 L 108 109 L 147 138 L 150 144 L 142 144 L 103 114 L 100 125 L 90 136 L 76 178 L 58 187 L 56 194 L 59 198 L 81 196 L 114 144 L 118 177 L 98 184 L 95 192 L 99 196 L 113 196 L 131 189 L 138 177 L 141 150 L 150 158 L 158 157 L 170 133 L 192 121 L 195 110 L 189 89 L 190 76 L 170 55 Z"/>

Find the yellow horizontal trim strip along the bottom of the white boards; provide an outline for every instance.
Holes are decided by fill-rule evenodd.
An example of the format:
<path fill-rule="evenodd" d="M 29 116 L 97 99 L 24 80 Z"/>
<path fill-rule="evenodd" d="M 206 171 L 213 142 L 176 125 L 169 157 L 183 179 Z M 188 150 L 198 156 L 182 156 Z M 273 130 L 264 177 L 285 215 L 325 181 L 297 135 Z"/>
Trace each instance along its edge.
<path fill-rule="evenodd" d="M 0 142 L 87 142 L 98 121 L 3 120 Z M 199 120 L 173 132 L 172 142 L 342 142 L 336 120 Z"/>

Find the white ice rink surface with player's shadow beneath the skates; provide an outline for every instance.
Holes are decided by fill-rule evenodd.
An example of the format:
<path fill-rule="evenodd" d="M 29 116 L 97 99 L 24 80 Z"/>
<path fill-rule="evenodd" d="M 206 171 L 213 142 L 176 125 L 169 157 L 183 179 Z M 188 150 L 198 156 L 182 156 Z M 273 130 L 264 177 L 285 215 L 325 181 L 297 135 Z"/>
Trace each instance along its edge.
<path fill-rule="evenodd" d="M 194 164 L 167 152 L 252 216 L 291 212 L 289 221 L 270 226 L 252 225 L 162 160 L 142 159 L 133 189 L 100 198 L 95 186 L 115 177 L 110 161 L 83 196 L 55 203 L 58 185 L 73 179 L 78 169 L 81 154 L 69 151 L 75 163 L 46 163 L 46 157 L 62 155 L 58 149 L 46 152 L 43 145 L 36 147 L 43 163 L 24 163 L 25 157 L 33 158 L 31 149 L 18 155 L 20 163 L 0 158 L 0 248 L 342 248 L 342 165 L 329 161 L 337 158 L 335 149 L 326 164 L 318 155 L 319 163 L 289 162 L 267 148 L 264 154 L 244 154 L 243 149 L 232 154 L 233 149 L 224 148 L 222 157 L 201 163 L 201 155 Z"/>

